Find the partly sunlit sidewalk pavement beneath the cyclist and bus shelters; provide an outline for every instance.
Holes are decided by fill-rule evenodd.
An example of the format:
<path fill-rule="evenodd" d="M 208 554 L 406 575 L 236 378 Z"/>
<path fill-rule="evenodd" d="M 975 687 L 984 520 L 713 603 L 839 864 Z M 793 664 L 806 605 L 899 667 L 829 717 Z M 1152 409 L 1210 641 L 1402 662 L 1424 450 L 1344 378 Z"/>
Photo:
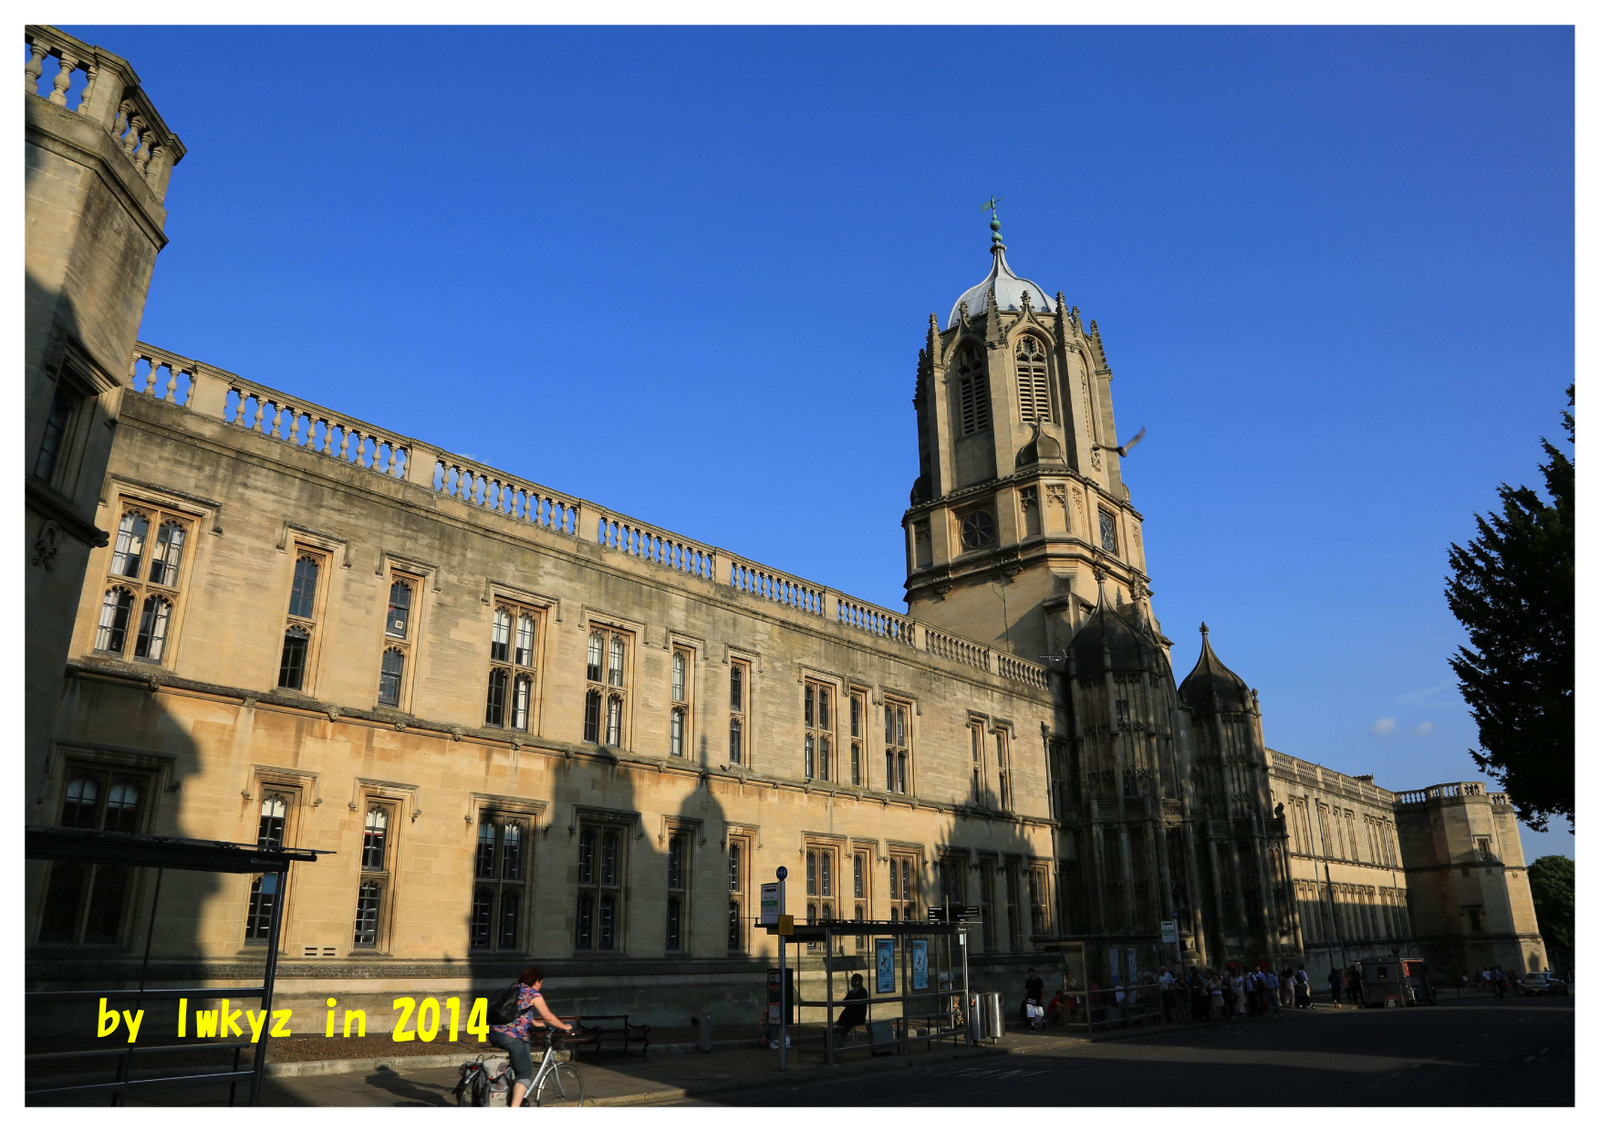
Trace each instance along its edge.
<path fill-rule="evenodd" d="M 1146 1026 L 1146 1033 L 1155 1031 Z M 1008 1033 L 984 1046 L 934 1047 L 923 1054 L 870 1057 L 866 1050 L 846 1052 L 838 1063 L 821 1063 L 821 1049 L 790 1049 L 789 1068 L 778 1070 L 778 1050 L 757 1049 L 742 1041 L 736 1049 L 709 1054 L 662 1054 L 642 1060 L 603 1055 L 578 1058 L 584 1076 L 586 1105 L 661 1105 L 685 1097 L 706 1097 L 760 1084 L 802 1082 L 856 1076 L 906 1065 L 930 1065 L 974 1057 L 997 1057 L 1088 1042 L 1082 1033 Z M 726 1044 L 726 1042 L 717 1042 Z M 846 1047 L 848 1049 L 848 1047 Z M 498 1050 L 494 1050 L 498 1054 Z M 390 1060 L 362 1073 L 270 1078 L 262 1082 L 262 1105 L 285 1106 L 437 1106 L 454 1105 L 451 1090 L 459 1079 L 459 1062 L 448 1066 L 411 1066 Z"/>

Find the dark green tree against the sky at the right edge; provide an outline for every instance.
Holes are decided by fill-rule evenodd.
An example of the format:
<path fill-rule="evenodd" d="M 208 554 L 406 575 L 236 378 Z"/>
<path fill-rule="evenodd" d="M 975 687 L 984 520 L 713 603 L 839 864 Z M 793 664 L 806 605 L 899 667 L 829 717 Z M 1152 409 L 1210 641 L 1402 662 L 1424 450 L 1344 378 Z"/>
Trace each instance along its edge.
<path fill-rule="evenodd" d="M 1566 389 L 1573 408 L 1573 387 Z M 1573 440 L 1573 414 L 1562 424 Z M 1472 759 L 1498 779 L 1517 817 L 1573 822 L 1573 460 L 1549 440 L 1549 502 L 1501 484 L 1504 512 L 1475 515 L 1478 537 L 1451 544 L 1445 596 L 1470 648 L 1450 660 L 1478 724 Z"/>

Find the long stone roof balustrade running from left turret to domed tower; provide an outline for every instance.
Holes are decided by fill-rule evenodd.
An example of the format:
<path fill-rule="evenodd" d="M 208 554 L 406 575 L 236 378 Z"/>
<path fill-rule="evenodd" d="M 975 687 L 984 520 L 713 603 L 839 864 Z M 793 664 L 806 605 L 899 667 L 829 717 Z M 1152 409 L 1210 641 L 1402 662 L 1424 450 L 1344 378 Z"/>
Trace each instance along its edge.
<path fill-rule="evenodd" d="M 578 539 L 592 539 L 605 550 L 726 585 L 752 598 L 813 614 L 824 622 L 848 625 L 880 640 L 1029 688 L 1050 688 L 1050 670 L 1032 660 L 920 625 L 902 612 L 834 593 L 816 582 L 618 515 L 597 504 L 563 496 L 411 436 L 398 436 L 365 421 L 291 398 L 275 389 L 246 382 L 238 374 L 147 342 L 134 345 L 126 397 L 165 401 L 221 421 L 232 428 L 418 484 L 507 520 L 531 523 Z M 594 515 L 595 521 L 589 523 L 586 515 Z"/>

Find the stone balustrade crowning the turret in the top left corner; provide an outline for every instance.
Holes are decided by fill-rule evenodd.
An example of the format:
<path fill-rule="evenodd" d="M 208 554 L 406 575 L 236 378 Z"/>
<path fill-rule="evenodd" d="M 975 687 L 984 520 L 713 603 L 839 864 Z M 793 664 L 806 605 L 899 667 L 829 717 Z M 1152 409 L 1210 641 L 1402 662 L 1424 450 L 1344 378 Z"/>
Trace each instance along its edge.
<path fill-rule="evenodd" d="M 29 24 L 22 42 L 27 46 L 22 69 L 27 93 L 104 126 L 155 200 L 165 200 L 184 144 L 146 98 L 128 61 L 54 27 Z M 54 74 L 46 80 L 46 72 Z"/>

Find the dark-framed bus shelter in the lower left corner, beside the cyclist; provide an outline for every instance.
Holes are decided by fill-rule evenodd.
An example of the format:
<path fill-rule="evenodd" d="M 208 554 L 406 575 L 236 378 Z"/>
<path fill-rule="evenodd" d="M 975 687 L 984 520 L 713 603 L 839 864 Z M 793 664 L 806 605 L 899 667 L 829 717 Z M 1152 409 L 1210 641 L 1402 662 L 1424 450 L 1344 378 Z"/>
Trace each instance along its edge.
<path fill-rule="evenodd" d="M 290 865 L 315 862 L 314 849 L 261 849 L 226 841 L 197 841 L 192 838 L 165 838 L 147 833 L 109 833 L 102 830 L 74 830 L 61 827 L 29 825 L 26 830 L 26 857 L 30 881 L 70 887 L 74 883 L 88 886 L 101 878 L 115 878 L 136 905 L 136 923 L 144 929 L 144 950 L 134 959 L 138 985 L 131 977 L 118 977 L 118 964 L 107 963 L 96 969 L 90 980 L 59 977 L 32 979 L 30 983 L 54 983 L 51 990 L 26 991 L 29 1049 L 26 1054 L 24 1098 L 27 1105 L 83 1105 L 109 1102 L 125 1105 L 131 1090 L 154 1103 L 198 1103 L 200 1094 L 210 1087 L 227 1089 L 227 1103 L 238 1098 L 238 1086 L 248 1084 L 250 1105 L 261 1097 L 261 1079 L 267 1062 L 267 1039 L 256 1042 L 254 1057 L 248 1066 L 240 1066 L 240 1055 L 251 1046 L 245 1041 L 189 1041 L 171 1044 L 155 1039 L 157 1033 L 173 1033 L 166 1028 L 168 1012 L 176 1015 L 182 1006 L 194 1010 L 195 1004 L 218 999 L 258 999 L 270 1017 L 272 985 L 278 967 L 278 940 L 282 935 L 283 897 L 288 892 Z M 70 870 L 70 871 L 64 871 Z M 94 870 L 101 870 L 96 873 Z M 237 987 L 149 987 L 152 940 L 157 927 L 182 918 L 182 911 L 170 911 L 163 919 L 162 881 L 166 873 L 187 876 L 205 873 L 254 873 L 261 876 L 262 891 L 272 892 L 267 939 L 262 955 L 259 983 Z M 32 887 L 32 886 L 30 886 Z M 173 887 L 181 884 L 168 881 Z M 170 900 L 171 903 L 171 900 Z M 37 905 L 30 899 L 30 905 Z M 61 983 L 67 982 L 67 987 Z M 94 982 L 99 985 L 74 985 Z M 162 980 L 157 980 L 162 982 Z M 149 1004 L 149 1006 L 147 1006 Z M 96 1017 L 110 1007 L 126 1017 L 149 1010 L 141 1039 L 130 1042 L 125 1031 L 106 1039 L 98 1038 Z M 42 1039 L 46 1022 L 67 1020 L 74 1039 Z M 149 1034 L 150 1039 L 146 1039 Z M 98 1044 L 96 1044 L 98 1041 Z M 38 1049 L 37 1046 L 48 1046 Z M 134 1060 L 141 1065 L 134 1066 Z M 147 1092 L 146 1092 L 147 1090 Z"/>

